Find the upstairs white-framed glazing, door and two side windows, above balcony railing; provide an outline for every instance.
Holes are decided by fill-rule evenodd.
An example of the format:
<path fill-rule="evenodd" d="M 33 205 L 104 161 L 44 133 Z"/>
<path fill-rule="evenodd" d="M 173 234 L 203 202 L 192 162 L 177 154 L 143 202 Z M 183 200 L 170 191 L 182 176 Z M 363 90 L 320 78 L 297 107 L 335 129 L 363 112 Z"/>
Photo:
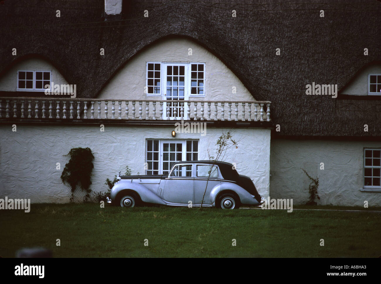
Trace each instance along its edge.
<path fill-rule="evenodd" d="M 205 96 L 205 63 L 147 62 L 147 96 Z M 180 97 L 180 98 L 179 98 Z"/>

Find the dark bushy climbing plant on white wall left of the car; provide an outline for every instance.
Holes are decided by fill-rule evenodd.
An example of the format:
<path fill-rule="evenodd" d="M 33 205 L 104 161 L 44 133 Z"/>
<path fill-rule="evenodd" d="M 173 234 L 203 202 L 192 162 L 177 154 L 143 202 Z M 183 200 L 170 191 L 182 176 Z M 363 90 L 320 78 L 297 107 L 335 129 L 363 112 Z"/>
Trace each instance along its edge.
<path fill-rule="evenodd" d="M 74 191 L 79 184 L 82 190 L 86 191 L 85 201 L 90 197 L 91 172 L 93 171 L 93 153 L 90 148 L 72 148 L 69 151 L 69 162 L 62 171 L 61 180 L 68 183 L 71 187 L 72 197 L 70 201 L 74 201 Z"/>

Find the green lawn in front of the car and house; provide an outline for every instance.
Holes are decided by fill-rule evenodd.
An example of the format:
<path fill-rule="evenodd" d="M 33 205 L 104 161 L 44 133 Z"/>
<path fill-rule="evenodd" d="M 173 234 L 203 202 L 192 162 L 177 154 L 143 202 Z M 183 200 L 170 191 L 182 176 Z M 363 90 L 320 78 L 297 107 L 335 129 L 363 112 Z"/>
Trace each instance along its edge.
<path fill-rule="evenodd" d="M 29 213 L 1 210 L 0 228 L 2 257 L 34 246 L 51 249 L 54 257 L 381 255 L 381 213 L 371 212 L 32 204 Z"/>

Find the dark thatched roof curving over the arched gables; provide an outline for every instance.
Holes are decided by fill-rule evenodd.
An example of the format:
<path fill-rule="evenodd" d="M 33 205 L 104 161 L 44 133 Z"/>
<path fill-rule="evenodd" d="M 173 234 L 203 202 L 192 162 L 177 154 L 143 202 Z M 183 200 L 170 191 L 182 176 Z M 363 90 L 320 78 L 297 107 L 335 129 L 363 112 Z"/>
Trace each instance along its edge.
<path fill-rule="evenodd" d="M 305 94 L 312 82 L 338 84 L 341 90 L 362 67 L 381 63 L 379 2 L 228 2 L 123 1 L 122 16 L 105 21 L 104 1 L 99 0 L 2 1 L 0 76 L 24 56 L 40 55 L 77 84 L 79 97 L 96 98 L 143 48 L 163 37 L 184 36 L 221 59 L 257 100 L 272 102 L 272 119 L 281 126 L 274 135 L 381 136 L 380 99 Z M 17 56 L 11 55 L 12 48 L 17 48 Z"/>

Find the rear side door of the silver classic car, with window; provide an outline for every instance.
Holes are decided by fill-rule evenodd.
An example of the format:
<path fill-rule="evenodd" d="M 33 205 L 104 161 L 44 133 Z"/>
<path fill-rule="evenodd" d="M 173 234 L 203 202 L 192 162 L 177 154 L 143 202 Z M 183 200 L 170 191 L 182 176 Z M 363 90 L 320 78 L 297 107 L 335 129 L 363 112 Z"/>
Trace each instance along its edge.
<path fill-rule="evenodd" d="M 210 164 L 195 164 L 194 167 L 194 202 L 195 204 L 201 204 L 202 197 L 205 193 L 203 204 L 211 204 L 209 198 L 210 192 L 215 186 L 221 184 L 218 166 L 214 165 L 212 168 Z M 208 180 L 209 172 L 211 173 Z M 205 188 L 207 189 L 206 192 Z"/>

